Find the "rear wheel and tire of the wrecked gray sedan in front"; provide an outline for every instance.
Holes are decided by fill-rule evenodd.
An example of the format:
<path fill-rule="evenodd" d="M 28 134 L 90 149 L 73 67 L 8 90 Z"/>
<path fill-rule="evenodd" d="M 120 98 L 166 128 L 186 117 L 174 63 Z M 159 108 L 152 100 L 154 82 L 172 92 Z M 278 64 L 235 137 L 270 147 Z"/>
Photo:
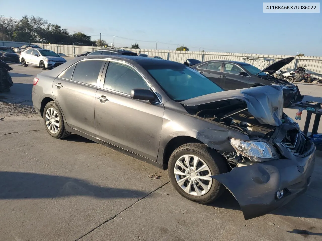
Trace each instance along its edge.
<path fill-rule="evenodd" d="M 46 104 L 43 121 L 47 132 L 54 138 L 62 139 L 71 134 L 65 129 L 62 112 L 54 101 Z"/>

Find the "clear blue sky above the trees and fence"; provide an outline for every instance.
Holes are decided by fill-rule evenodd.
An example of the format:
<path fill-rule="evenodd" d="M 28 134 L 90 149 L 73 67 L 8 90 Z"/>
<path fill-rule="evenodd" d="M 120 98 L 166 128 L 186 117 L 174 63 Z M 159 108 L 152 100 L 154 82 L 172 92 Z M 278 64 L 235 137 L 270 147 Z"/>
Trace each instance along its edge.
<path fill-rule="evenodd" d="M 285 1 L 285 0 L 284 0 Z M 267 2 L 267 1 L 265 1 Z M 276 2 L 276 1 L 275 1 Z M 302 2 L 306 2 L 303 1 Z M 314 1 L 307 1 L 314 2 Z M 322 13 L 263 13 L 263 1 L 95 0 L 1 3 L 5 16 L 40 16 L 115 46 L 322 56 Z M 20 6 L 19 8 L 16 6 Z M 9 15 L 7 15 L 9 14 Z M 151 42 L 147 42 L 151 41 Z"/>

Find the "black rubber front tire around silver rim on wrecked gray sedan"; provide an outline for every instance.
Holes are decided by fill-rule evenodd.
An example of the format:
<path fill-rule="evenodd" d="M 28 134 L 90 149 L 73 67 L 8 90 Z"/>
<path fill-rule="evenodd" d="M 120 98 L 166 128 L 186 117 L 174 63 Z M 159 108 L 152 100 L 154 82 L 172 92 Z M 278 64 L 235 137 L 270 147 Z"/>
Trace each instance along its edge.
<path fill-rule="evenodd" d="M 209 151 L 213 152 L 213 150 L 209 150 L 207 147 L 204 147 Z M 216 164 L 216 160 L 214 160 L 214 158 L 212 156 L 207 155 L 207 153 L 204 153 L 202 150 L 197 150 L 194 147 L 183 147 L 183 148 L 177 148 L 174 153 L 170 156 L 169 159 L 169 163 L 168 163 L 168 173 L 169 173 L 169 178 L 171 180 L 172 185 L 175 187 L 176 191 L 179 192 L 183 197 L 191 200 L 191 201 L 196 201 L 199 203 L 209 203 L 214 201 L 216 198 L 218 198 L 223 190 L 225 189 L 224 186 L 218 182 L 217 180 L 213 179 L 212 180 L 212 186 L 210 188 L 210 190 L 202 195 L 202 196 L 193 196 L 190 195 L 188 193 L 186 193 L 184 190 L 181 189 L 181 187 L 178 185 L 176 179 L 175 179 L 175 174 L 174 174 L 174 167 L 175 167 L 175 162 L 181 157 L 184 156 L 186 154 L 191 154 L 191 155 L 195 155 L 198 156 L 199 158 L 201 158 L 209 167 L 211 174 L 212 175 L 217 175 L 217 174 L 221 174 L 223 172 L 220 171 L 220 168 L 218 167 L 218 165 Z M 214 153 L 212 153 L 214 154 Z M 217 155 L 219 155 L 218 153 L 215 153 Z M 214 155 L 214 156 L 217 156 Z M 222 158 L 222 156 L 218 156 L 219 158 Z M 218 160 L 218 161 L 222 161 Z"/>

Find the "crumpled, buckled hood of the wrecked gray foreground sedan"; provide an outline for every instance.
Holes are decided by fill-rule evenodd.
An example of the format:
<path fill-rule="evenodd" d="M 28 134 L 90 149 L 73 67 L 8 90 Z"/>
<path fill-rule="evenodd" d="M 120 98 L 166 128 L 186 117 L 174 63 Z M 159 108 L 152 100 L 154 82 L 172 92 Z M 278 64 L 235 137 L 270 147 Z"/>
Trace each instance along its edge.
<path fill-rule="evenodd" d="M 250 112 L 260 124 L 272 126 L 279 126 L 282 124 L 283 89 L 280 86 L 266 85 L 217 92 L 188 99 L 180 103 L 187 106 L 196 106 L 229 99 L 240 99 L 245 101 L 248 112 Z"/>

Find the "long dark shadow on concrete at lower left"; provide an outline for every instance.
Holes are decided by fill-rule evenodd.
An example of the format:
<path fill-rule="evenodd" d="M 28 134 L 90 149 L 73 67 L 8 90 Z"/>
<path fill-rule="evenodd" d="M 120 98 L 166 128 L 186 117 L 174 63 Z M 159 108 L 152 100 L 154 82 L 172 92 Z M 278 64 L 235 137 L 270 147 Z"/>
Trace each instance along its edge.
<path fill-rule="evenodd" d="M 139 190 L 98 186 L 68 176 L 0 171 L 0 200 L 67 196 L 91 196 L 103 199 L 137 198 L 147 194 Z"/>

